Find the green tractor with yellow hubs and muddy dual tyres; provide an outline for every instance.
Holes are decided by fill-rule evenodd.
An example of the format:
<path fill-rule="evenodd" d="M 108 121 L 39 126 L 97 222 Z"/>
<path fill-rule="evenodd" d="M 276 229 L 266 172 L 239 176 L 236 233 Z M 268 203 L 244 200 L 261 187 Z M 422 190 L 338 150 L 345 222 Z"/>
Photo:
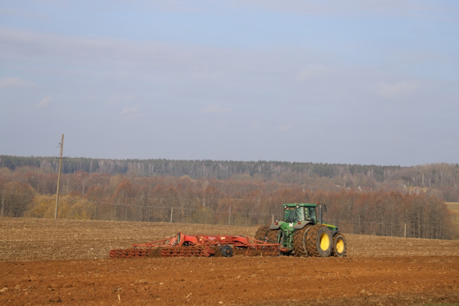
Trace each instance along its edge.
<path fill-rule="evenodd" d="M 322 222 L 320 204 L 283 204 L 284 221 L 260 227 L 255 239 L 279 243 L 287 255 L 299 257 L 342 257 L 346 255 L 346 240 L 336 226 Z M 316 208 L 318 207 L 318 214 Z"/>

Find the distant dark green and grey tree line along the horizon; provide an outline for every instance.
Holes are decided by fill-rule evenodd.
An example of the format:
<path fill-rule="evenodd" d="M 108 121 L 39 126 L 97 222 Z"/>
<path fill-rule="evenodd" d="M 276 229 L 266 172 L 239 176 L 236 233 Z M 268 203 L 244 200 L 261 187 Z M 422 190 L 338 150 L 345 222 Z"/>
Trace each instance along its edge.
<path fill-rule="evenodd" d="M 0 155 L 0 168 L 58 171 L 55 157 Z M 62 173 L 77 171 L 109 175 L 189 176 L 191 179 L 247 179 L 302 185 L 311 190 L 393 190 L 427 193 L 447 202 L 459 201 L 459 164 L 436 163 L 410 167 L 281 161 L 215 161 L 170 159 L 96 159 L 66 157 Z"/>

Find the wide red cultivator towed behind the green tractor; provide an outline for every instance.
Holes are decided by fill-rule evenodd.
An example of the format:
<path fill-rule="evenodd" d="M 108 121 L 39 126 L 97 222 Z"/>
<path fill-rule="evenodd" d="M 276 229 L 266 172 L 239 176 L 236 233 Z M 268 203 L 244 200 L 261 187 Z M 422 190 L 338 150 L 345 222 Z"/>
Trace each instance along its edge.
<path fill-rule="evenodd" d="M 179 232 L 172 238 L 144 244 L 133 244 L 129 249 L 111 250 L 110 257 L 231 257 L 234 253 L 248 256 L 279 256 L 287 250 L 280 244 L 254 238 L 227 235 L 185 235 Z"/>

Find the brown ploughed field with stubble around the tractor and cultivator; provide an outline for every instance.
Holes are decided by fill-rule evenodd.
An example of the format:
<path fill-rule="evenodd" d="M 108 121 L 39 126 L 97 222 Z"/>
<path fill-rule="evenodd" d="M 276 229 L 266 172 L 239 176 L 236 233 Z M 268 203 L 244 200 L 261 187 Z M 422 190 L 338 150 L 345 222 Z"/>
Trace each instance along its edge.
<path fill-rule="evenodd" d="M 255 230 L 0 218 L 0 305 L 459 303 L 459 241 L 345 235 L 345 258 L 108 258 L 178 231 Z"/>

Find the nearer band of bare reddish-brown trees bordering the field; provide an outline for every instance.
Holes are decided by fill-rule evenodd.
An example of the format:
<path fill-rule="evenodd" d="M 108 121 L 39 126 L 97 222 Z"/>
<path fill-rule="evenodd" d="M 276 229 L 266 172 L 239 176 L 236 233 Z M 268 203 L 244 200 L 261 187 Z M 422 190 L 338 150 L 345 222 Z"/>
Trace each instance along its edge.
<path fill-rule="evenodd" d="M 0 168 L 0 216 L 54 217 L 57 173 L 38 169 Z M 62 174 L 60 185 L 59 218 L 253 226 L 281 219 L 283 203 L 319 201 L 327 205 L 325 221 L 345 233 L 458 237 L 445 202 L 425 192 L 85 171 Z"/>

